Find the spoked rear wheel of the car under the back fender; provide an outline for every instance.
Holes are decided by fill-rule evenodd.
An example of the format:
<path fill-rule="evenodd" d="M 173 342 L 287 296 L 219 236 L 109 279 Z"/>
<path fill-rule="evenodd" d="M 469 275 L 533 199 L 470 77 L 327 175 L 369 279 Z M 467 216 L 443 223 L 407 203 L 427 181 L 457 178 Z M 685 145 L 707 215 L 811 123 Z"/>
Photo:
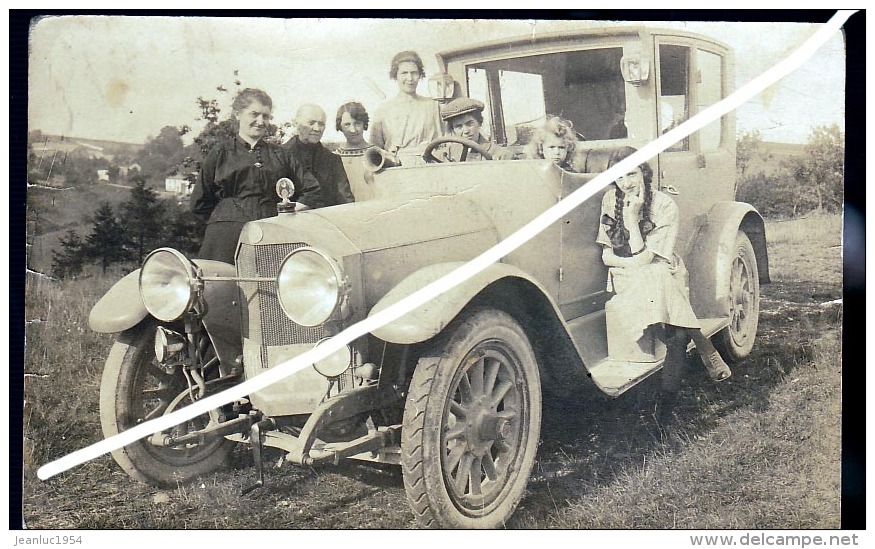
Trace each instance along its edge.
<path fill-rule="evenodd" d="M 729 326 L 718 332 L 713 340 L 723 359 L 730 363 L 740 361 L 753 350 L 760 315 L 760 279 L 756 255 L 743 231 L 738 231 L 735 236 L 733 249 L 735 255 L 730 265 L 727 288 L 730 299 Z"/>

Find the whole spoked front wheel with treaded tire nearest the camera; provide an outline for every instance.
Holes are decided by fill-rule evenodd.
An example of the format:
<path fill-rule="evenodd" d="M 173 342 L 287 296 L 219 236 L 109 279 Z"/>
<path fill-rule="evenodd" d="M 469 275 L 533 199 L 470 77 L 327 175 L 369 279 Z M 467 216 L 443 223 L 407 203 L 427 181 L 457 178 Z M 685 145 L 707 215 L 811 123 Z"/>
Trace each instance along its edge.
<path fill-rule="evenodd" d="M 421 358 L 404 408 L 402 471 L 418 522 L 496 528 L 523 496 L 541 429 L 535 353 L 508 314 L 476 310 Z"/>

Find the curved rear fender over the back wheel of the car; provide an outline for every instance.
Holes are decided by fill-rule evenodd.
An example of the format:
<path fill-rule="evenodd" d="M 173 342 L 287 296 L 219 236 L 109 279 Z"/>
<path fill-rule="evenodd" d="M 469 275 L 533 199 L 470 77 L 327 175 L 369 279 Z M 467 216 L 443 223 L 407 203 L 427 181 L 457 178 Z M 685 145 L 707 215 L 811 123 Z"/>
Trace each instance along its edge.
<path fill-rule="evenodd" d="M 769 279 L 765 223 L 743 202 L 718 202 L 702 219 L 684 263 L 690 273 L 690 302 L 699 318 L 724 317 L 729 310 L 729 273 L 738 231 L 750 239 L 761 284 Z"/>

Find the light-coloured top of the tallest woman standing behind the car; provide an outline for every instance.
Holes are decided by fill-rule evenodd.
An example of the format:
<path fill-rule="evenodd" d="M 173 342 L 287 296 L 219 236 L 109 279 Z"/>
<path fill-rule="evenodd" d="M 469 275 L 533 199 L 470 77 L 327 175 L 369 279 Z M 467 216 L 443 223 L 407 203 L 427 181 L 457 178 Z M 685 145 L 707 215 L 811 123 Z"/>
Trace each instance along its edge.
<path fill-rule="evenodd" d="M 441 135 L 437 101 L 417 95 L 401 95 L 383 102 L 370 125 L 371 143 L 396 154 L 423 149 Z"/>

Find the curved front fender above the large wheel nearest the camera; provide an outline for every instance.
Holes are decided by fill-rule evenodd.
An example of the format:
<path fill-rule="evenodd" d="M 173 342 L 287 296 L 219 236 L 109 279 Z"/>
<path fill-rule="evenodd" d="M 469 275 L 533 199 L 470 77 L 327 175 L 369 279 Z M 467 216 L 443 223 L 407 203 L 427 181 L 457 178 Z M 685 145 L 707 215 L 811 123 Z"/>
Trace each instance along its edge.
<path fill-rule="evenodd" d="M 462 265 L 464 262 L 461 261 L 438 263 L 413 272 L 374 305 L 369 317 Z M 540 288 L 546 295 L 546 291 L 540 284 L 517 267 L 505 263 L 494 263 L 424 305 L 374 330 L 373 334 L 389 343 L 410 344 L 426 341 L 439 334 L 483 289 L 508 277 L 527 280 Z"/>

